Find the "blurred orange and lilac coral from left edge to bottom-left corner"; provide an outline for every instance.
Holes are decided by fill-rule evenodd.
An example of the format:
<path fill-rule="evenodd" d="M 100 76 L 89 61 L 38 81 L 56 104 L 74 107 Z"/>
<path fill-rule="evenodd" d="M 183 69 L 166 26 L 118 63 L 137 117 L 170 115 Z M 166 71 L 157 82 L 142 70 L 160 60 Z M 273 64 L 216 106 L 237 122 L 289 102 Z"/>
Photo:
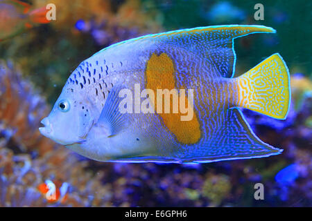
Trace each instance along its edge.
<path fill-rule="evenodd" d="M 0 66 L 0 205 L 46 206 L 37 186 L 51 179 L 71 186 L 66 205 L 105 206 L 110 186 L 101 184 L 103 174 L 86 171 L 87 162 L 38 133 L 49 106 L 17 68 Z"/>

